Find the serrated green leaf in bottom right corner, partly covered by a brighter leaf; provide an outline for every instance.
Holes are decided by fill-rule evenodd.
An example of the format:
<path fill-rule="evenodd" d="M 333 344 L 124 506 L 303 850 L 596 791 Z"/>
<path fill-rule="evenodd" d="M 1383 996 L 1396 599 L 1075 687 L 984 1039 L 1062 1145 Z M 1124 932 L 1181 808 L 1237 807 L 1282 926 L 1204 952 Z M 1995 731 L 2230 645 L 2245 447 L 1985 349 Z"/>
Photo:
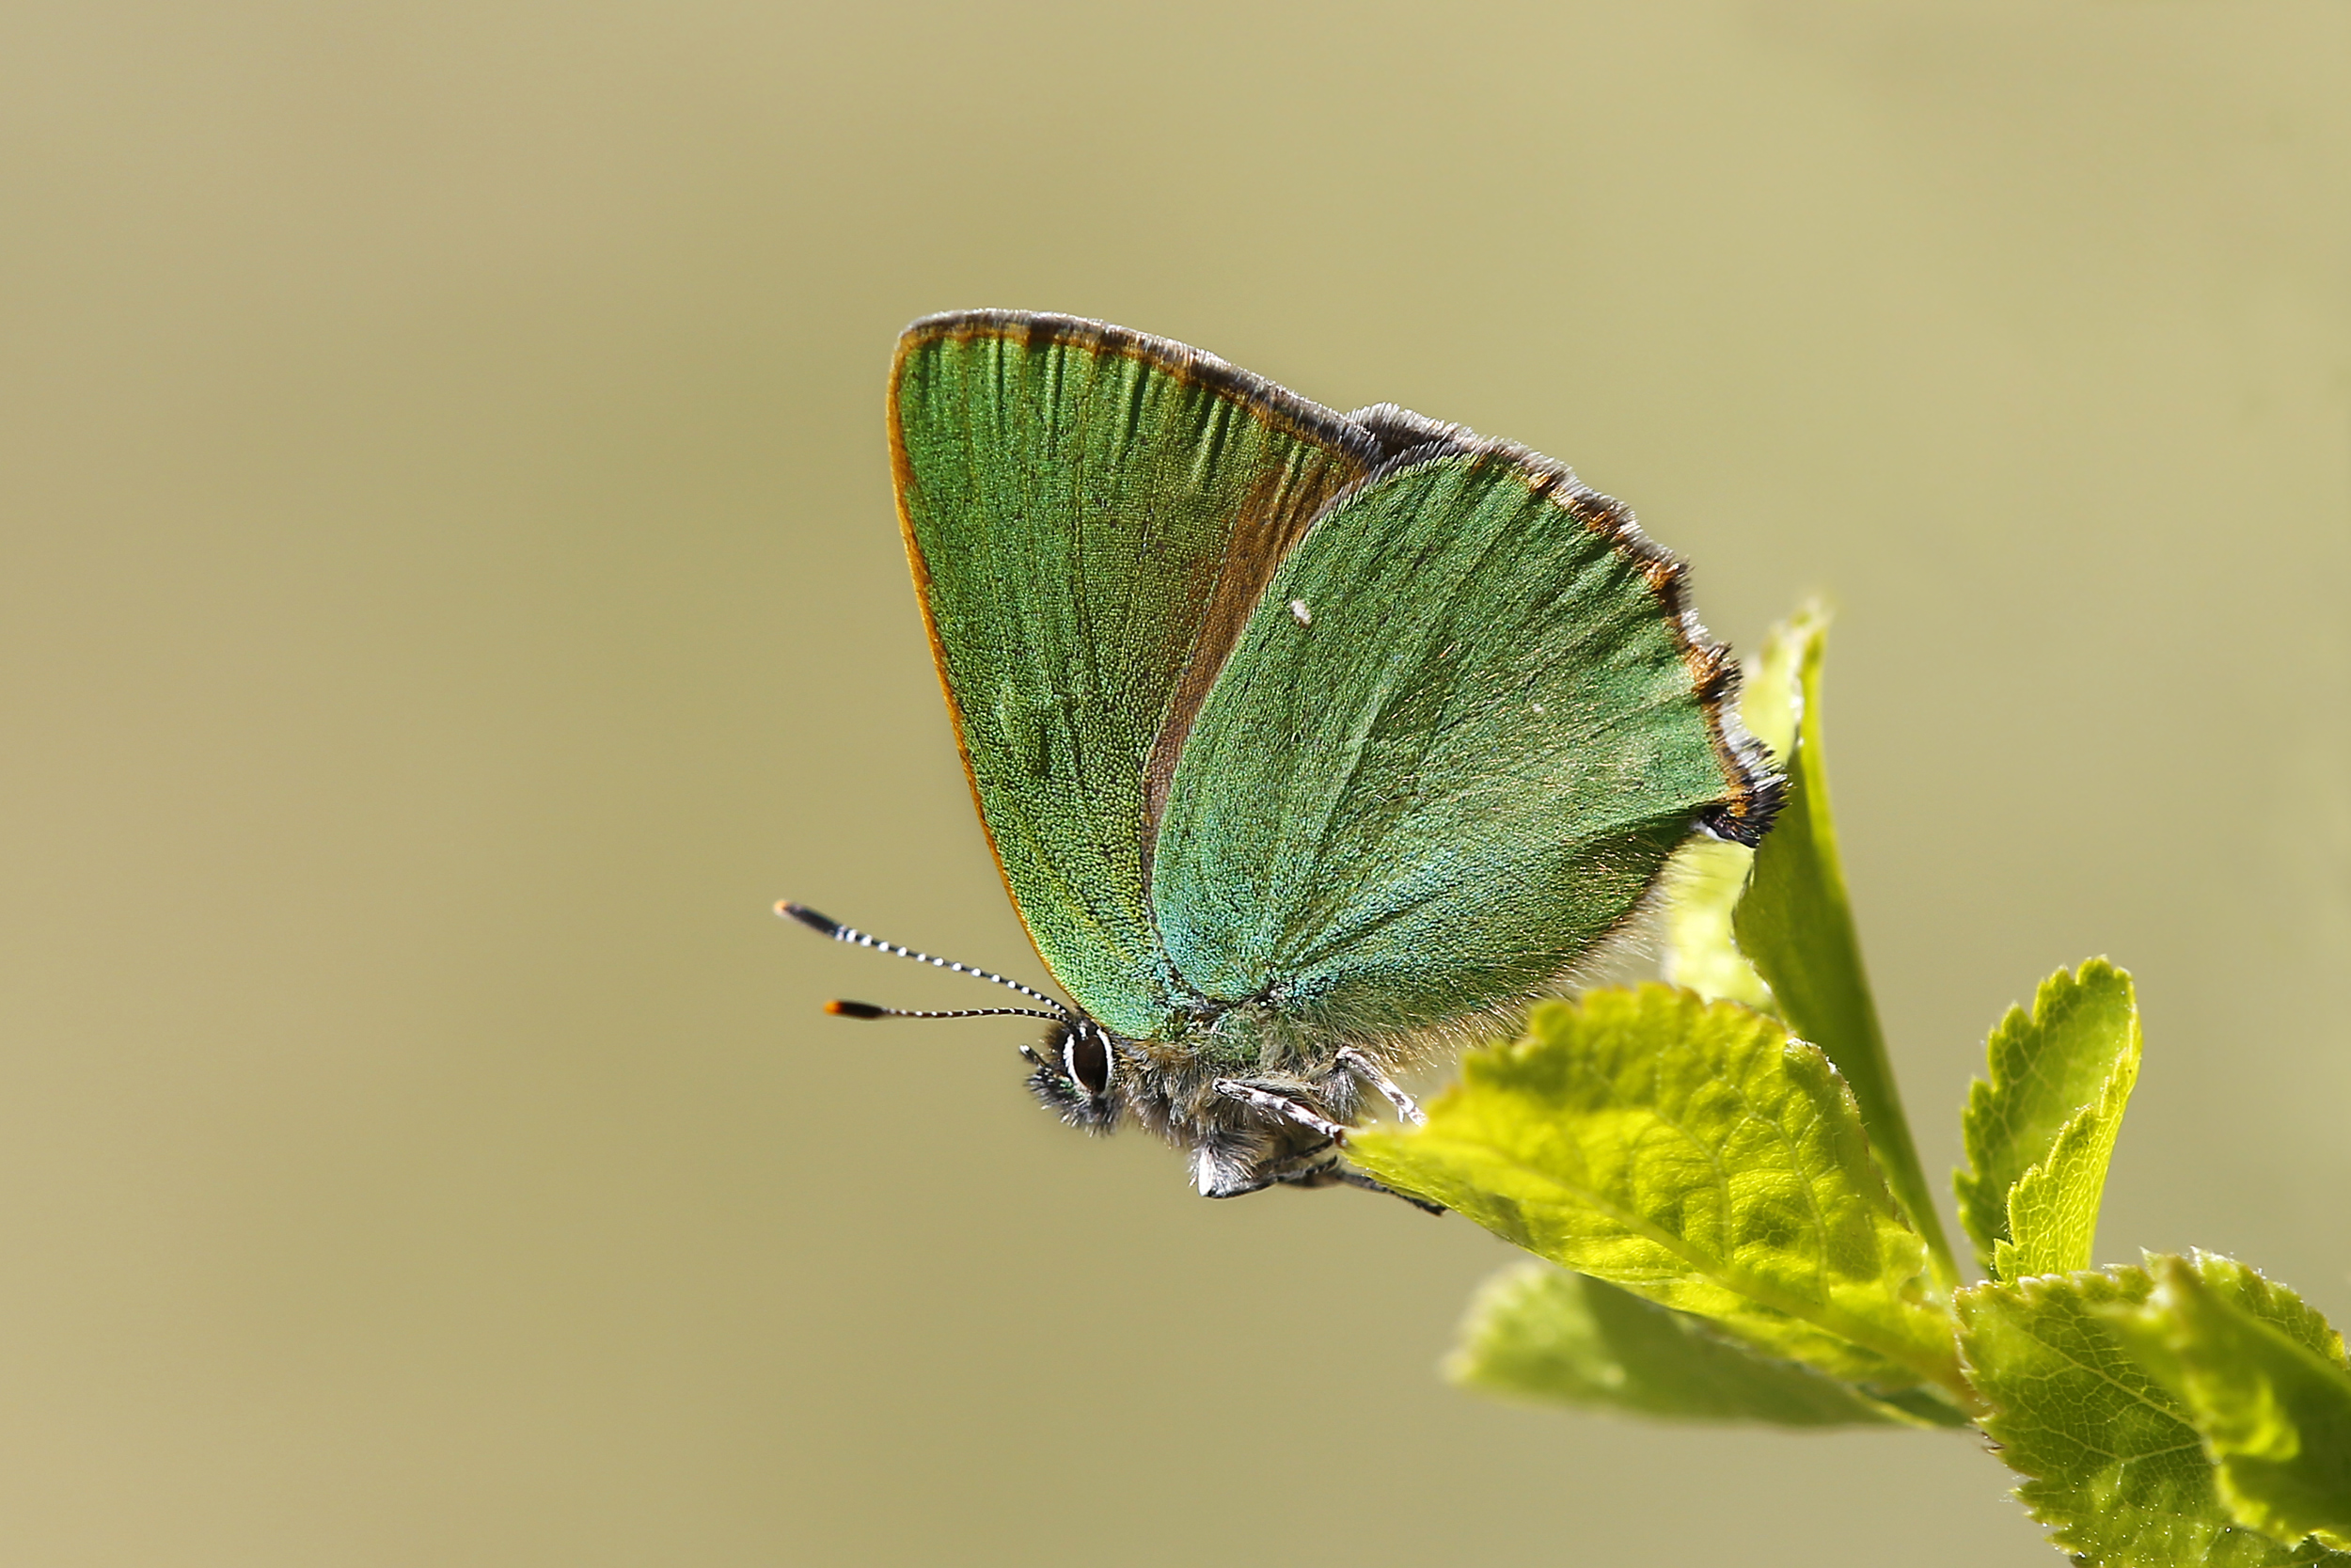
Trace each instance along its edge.
<path fill-rule="evenodd" d="M 2250 1269 L 2196 1260 L 2198 1276 L 2262 1321 L 2309 1333 L 2311 1314 Z M 2259 1276 L 2252 1276 L 2259 1279 Z M 1958 1293 L 1968 1378 L 1991 1401 L 1984 1432 L 2027 1476 L 2017 1497 L 2050 1540 L 2088 1563 L 2278 1568 L 2351 1556 L 2285 1544 L 2236 1523 L 2186 1408 L 2116 1331 L 2116 1309 L 2154 1293 L 2146 1269 L 2038 1274 Z"/>

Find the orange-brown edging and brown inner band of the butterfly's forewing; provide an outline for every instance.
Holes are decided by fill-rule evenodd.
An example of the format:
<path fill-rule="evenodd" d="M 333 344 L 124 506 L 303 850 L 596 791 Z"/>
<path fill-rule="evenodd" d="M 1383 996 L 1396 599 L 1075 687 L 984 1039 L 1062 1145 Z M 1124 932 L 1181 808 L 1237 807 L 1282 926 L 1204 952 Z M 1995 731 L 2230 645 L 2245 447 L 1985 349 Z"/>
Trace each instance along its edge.
<path fill-rule="evenodd" d="M 900 496 L 907 494 L 910 465 L 905 433 L 900 430 L 898 378 L 912 353 L 940 339 L 1004 339 L 1018 341 L 1030 350 L 1072 346 L 1086 350 L 1089 355 L 1128 357 L 1166 374 L 1180 386 L 1206 388 L 1215 397 L 1248 411 L 1258 423 L 1312 444 L 1333 458 L 1328 482 L 1317 489 L 1286 487 L 1281 482 L 1284 475 L 1279 473 L 1265 475 L 1265 482 L 1260 482 L 1253 496 L 1244 501 L 1241 515 L 1234 520 L 1232 545 L 1218 562 L 1215 581 L 1192 644 L 1192 656 L 1185 661 L 1185 668 L 1173 684 L 1161 715 L 1159 733 L 1154 736 L 1145 762 L 1140 870 L 1143 884 L 1150 886 L 1152 844 L 1159 832 L 1159 818 L 1166 809 L 1168 783 L 1176 776 L 1176 757 L 1183 752 L 1185 736 L 1192 733 L 1192 719 L 1199 715 L 1199 705 L 1208 696 L 1208 686 L 1215 684 L 1218 672 L 1232 656 L 1232 649 L 1241 637 L 1241 628 L 1248 625 L 1248 616 L 1265 595 L 1265 585 L 1272 581 L 1274 569 L 1281 567 L 1281 559 L 1291 552 L 1298 538 L 1305 536 L 1314 517 L 1326 510 L 1331 496 L 1368 475 L 1387 454 L 1368 430 L 1345 414 L 1326 409 L 1324 404 L 1300 397 L 1265 376 L 1173 339 L 1159 339 L 1147 331 L 1133 331 L 1077 315 L 1030 310 L 950 310 L 926 315 L 898 336 L 898 357 L 891 364 L 889 383 L 889 440 L 891 473 Z M 957 708 L 955 689 L 947 679 L 947 665 L 938 642 L 938 625 L 931 616 L 931 574 L 922 557 L 922 545 L 915 538 L 912 517 L 905 515 L 903 508 L 898 522 L 905 534 L 907 562 L 915 571 L 924 630 L 931 637 L 931 661 L 938 670 L 940 691 L 947 698 L 947 712 L 955 719 L 957 750 L 964 757 L 964 778 L 973 790 L 973 804 L 978 804 L 978 778 L 971 771 L 971 752 L 964 743 L 964 715 Z M 994 851 L 992 835 L 990 849 Z M 997 856 L 997 872 L 1004 872 L 1002 853 Z M 1009 879 L 1006 886 L 1011 886 Z"/>

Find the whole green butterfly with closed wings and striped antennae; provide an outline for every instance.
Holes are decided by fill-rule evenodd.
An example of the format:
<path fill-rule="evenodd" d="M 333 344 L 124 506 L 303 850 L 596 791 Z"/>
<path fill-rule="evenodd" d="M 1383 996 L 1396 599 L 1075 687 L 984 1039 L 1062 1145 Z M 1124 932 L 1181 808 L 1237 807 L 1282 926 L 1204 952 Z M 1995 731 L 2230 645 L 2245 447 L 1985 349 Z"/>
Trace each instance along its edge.
<path fill-rule="evenodd" d="M 1335 414 L 1067 315 L 898 339 L 915 588 L 1004 886 L 1067 1001 L 1030 1091 L 1190 1152 L 1192 1185 L 1378 1187 L 1366 1091 L 1507 1027 L 1690 835 L 1780 806 L 1737 665 L 1632 512 L 1526 447 Z M 1378 1187 L 1385 1190 L 1385 1187 Z"/>

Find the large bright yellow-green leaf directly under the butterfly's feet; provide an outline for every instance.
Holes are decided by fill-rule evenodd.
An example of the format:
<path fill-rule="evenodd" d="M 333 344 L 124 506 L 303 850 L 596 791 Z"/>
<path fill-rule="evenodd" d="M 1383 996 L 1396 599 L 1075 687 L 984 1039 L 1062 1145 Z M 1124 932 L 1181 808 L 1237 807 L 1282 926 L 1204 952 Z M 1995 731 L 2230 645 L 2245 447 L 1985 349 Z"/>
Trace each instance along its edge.
<path fill-rule="evenodd" d="M 1587 992 L 1472 1051 L 1427 1112 L 1352 1133 L 1349 1159 L 1766 1356 L 1970 1399 L 1853 1095 L 1775 1018 L 1667 985 Z"/>

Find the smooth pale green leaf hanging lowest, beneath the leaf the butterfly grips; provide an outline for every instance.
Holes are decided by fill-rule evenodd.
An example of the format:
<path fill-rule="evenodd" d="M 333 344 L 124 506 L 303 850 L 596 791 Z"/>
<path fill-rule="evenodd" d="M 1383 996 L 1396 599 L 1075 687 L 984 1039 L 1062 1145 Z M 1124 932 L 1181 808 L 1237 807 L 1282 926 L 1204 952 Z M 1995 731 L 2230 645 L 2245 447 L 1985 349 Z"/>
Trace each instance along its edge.
<path fill-rule="evenodd" d="M 1688 1312 L 1566 1274 L 1502 1269 L 1469 1302 L 1446 1371 L 1486 1394 L 1610 1415 L 1773 1427 L 1965 1425 L 1951 1406 L 1911 1413 L 1796 1361 L 1768 1361 Z"/>

